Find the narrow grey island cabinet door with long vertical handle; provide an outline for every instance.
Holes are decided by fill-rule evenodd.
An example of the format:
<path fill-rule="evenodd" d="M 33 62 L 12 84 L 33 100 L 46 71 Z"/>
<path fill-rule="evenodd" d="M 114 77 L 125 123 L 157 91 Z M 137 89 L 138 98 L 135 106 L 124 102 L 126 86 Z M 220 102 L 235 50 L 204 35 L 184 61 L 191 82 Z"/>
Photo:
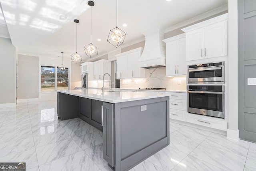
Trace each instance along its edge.
<path fill-rule="evenodd" d="M 103 102 L 103 158 L 114 166 L 114 104 Z"/>

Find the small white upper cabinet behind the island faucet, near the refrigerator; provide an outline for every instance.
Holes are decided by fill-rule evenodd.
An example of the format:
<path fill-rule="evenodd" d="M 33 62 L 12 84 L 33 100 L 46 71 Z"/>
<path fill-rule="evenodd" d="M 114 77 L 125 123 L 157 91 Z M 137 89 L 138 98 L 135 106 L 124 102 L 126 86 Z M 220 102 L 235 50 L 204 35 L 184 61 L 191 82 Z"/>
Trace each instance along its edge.
<path fill-rule="evenodd" d="M 108 73 L 108 60 L 98 60 L 93 63 L 93 80 L 102 80 L 105 73 Z"/>

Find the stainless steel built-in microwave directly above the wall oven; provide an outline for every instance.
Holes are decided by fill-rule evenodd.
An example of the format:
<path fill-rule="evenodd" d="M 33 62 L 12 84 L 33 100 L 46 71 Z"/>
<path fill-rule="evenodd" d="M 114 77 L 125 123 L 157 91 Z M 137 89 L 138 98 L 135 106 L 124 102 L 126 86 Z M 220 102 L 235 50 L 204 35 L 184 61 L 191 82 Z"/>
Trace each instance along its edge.
<path fill-rule="evenodd" d="M 188 66 L 188 84 L 224 84 L 224 62 Z"/>

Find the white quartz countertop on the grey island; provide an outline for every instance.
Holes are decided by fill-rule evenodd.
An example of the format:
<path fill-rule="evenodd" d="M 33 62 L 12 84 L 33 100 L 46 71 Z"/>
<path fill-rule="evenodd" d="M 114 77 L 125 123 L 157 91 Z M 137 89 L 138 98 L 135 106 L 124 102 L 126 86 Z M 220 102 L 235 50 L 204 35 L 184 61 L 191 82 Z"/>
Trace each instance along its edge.
<path fill-rule="evenodd" d="M 95 99 L 105 101 L 109 103 L 120 103 L 125 101 L 134 101 L 142 99 L 151 99 L 156 97 L 167 97 L 168 94 L 161 94 L 156 92 L 133 92 L 133 91 L 120 91 L 111 92 L 99 89 L 70 89 L 70 90 L 58 90 L 58 92 L 66 93 L 69 95 L 76 95 L 79 97 L 85 97 L 89 99 Z"/>

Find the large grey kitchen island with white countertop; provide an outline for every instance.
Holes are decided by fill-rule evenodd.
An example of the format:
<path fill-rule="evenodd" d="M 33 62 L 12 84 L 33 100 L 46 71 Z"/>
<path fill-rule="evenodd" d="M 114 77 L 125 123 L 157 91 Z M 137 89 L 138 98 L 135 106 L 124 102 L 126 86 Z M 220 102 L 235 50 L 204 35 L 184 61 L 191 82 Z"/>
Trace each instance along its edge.
<path fill-rule="evenodd" d="M 99 89 L 58 91 L 58 117 L 80 117 L 103 131 L 103 157 L 126 171 L 170 143 L 169 96 Z"/>

